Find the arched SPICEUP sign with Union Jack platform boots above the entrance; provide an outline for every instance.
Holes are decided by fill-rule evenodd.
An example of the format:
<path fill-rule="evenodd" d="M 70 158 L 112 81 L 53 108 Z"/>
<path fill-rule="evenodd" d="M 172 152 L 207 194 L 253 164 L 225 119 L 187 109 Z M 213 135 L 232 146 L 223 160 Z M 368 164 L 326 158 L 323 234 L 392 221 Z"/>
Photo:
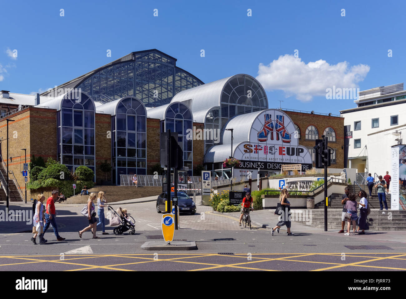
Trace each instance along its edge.
<path fill-rule="evenodd" d="M 238 144 L 233 157 L 245 169 L 281 170 L 282 165 L 302 164 L 305 171 L 313 166 L 309 150 L 299 145 L 293 121 L 278 109 L 267 109 L 257 116 L 249 140 Z"/>

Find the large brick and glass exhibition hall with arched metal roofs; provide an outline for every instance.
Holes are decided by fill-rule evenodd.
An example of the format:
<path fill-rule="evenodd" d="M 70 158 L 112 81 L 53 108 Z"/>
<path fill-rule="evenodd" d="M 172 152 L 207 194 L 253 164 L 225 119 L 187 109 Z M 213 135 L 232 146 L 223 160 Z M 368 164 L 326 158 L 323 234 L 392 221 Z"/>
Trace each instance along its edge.
<path fill-rule="evenodd" d="M 6 120 L 12 119 L 9 130 L 24 133 L 9 142 L 14 173 L 24 163 L 21 148 L 27 148 L 28 163 L 32 155 L 52 157 L 72 171 L 88 166 L 96 183 L 120 185 L 121 175 L 152 174 L 160 163 L 160 133 L 168 129 L 179 134 L 189 175 L 200 164 L 213 175 L 229 177 L 222 161 L 230 155 L 242 161 L 241 170 L 277 171 L 282 164 L 308 168 L 319 131 L 331 137 L 330 146 L 337 148 L 332 163 L 342 167 L 343 118 L 268 109 L 266 93 L 253 76 L 236 74 L 204 84 L 176 61 L 156 49 L 132 52 L 41 95 L 2 91 L 0 103 L 11 109 L 21 105 L 0 116 L 4 162 Z M 206 129 L 220 138 L 188 134 Z M 226 129 L 233 129 L 232 149 Z M 110 174 L 101 171 L 104 160 L 112 165 Z M 17 181 L 24 186 L 20 176 Z"/>

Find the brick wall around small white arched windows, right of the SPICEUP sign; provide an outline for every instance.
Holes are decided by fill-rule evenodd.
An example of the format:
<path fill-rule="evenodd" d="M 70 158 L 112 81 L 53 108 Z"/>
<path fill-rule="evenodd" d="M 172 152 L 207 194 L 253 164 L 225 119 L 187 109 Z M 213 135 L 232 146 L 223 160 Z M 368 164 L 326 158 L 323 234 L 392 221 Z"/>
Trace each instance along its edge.
<path fill-rule="evenodd" d="M 306 147 L 315 146 L 315 140 L 306 140 L 306 129 L 307 127 L 313 125 L 319 131 L 319 139 L 321 139 L 324 130 L 327 127 L 331 127 L 335 131 L 336 142 L 328 142 L 328 146 L 331 148 L 337 149 L 336 152 L 336 164 L 331 164 L 331 167 L 334 168 L 343 168 L 344 167 L 344 150 L 341 149 L 341 146 L 344 145 L 344 118 L 336 116 L 325 116 L 318 114 L 310 113 L 301 113 L 295 111 L 283 111 L 293 122 L 298 125 L 300 129 L 300 140 L 299 144 Z M 313 163 L 314 166 L 314 163 Z"/>

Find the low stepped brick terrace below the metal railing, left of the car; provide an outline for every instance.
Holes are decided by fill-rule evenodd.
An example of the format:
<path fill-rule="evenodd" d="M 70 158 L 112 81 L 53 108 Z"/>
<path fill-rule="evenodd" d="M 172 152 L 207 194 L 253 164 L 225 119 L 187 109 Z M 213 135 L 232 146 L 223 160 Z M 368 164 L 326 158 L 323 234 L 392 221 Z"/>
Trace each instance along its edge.
<path fill-rule="evenodd" d="M 78 190 L 80 192 L 81 190 Z M 136 199 L 147 196 L 158 196 L 162 193 L 162 186 L 94 186 L 89 189 L 89 194 L 95 192 L 96 196 L 99 191 L 104 191 L 108 203 L 114 203 L 116 201 L 124 201 L 127 199 Z M 76 195 L 69 197 L 63 203 L 87 203 L 89 195 Z"/>

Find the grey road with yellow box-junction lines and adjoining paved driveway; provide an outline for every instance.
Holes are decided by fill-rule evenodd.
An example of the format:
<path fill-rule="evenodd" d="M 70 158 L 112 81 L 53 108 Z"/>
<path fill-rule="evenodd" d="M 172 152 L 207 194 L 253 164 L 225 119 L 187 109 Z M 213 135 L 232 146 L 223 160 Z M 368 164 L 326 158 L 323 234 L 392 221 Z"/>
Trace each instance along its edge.
<path fill-rule="evenodd" d="M 113 205 L 126 207 L 134 217 L 134 235 L 128 231 L 119 236 L 112 234 L 114 227 L 106 220 L 109 235 L 102 235 L 98 227 L 99 239 L 92 239 L 90 231 L 79 238 L 78 231 L 88 225 L 80 214 L 82 205 L 56 204 L 59 234 L 66 238 L 62 242 L 56 241 L 50 229 L 45 234 L 48 243 L 32 244 L 32 224 L 26 223 L 25 215 L 2 221 L 0 271 L 35 271 L 44 269 L 48 263 L 56 271 L 165 270 L 168 265 L 172 271 L 406 271 L 404 231 L 368 231 L 365 235 L 345 236 L 292 222 L 294 236 L 287 236 L 284 227 L 272 236 L 269 227 L 277 223 L 273 210 L 251 212 L 254 225 L 250 230 L 238 226 L 238 212 L 220 214 L 211 207 L 198 205 L 196 214 L 180 215 L 180 229 L 174 235 L 174 241 L 195 242 L 197 250 L 145 251 L 141 246 L 146 242 L 163 241 L 162 214 L 156 212 L 155 200 L 138 200 Z M 32 211 L 32 205 L 10 208 Z"/>

